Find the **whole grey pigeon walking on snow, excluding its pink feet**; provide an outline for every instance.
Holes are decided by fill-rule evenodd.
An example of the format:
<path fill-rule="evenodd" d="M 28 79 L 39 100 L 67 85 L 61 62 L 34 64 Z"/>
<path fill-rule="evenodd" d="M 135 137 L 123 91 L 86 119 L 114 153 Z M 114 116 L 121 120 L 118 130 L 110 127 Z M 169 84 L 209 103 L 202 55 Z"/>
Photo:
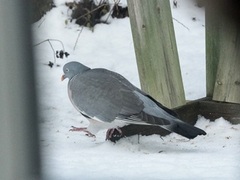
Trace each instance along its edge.
<path fill-rule="evenodd" d="M 94 120 L 87 128 L 91 133 L 97 133 L 101 128 L 116 128 L 118 123 L 114 122 L 124 122 L 161 126 L 190 139 L 206 134 L 179 120 L 172 110 L 118 73 L 90 69 L 78 62 L 67 63 L 63 71 L 62 80 L 69 78 L 68 93 L 74 107 Z"/>

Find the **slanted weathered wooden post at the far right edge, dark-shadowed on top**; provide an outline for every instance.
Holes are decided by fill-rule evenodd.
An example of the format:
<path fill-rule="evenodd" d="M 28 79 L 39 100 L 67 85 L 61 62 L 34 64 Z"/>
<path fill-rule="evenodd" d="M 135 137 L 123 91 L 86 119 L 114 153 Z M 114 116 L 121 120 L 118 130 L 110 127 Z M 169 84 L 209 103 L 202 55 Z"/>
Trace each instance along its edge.
<path fill-rule="evenodd" d="M 240 103 L 240 29 L 225 21 L 220 31 L 220 57 L 213 100 Z"/>

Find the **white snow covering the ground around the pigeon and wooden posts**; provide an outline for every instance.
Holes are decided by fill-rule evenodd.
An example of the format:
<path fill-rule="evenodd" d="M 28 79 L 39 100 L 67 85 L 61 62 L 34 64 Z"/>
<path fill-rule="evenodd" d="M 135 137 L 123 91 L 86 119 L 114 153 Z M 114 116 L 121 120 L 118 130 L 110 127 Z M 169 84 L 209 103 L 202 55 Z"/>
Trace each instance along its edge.
<path fill-rule="evenodd" d="M 68 99 L 67 81 L 60 80 L 66 62 L 107 68 L 138 87 L 140 83 L 129 18 L 110 19 L 109 25 L 96 25 L 93 32 L 83 28 L 74 50 L 81 27 L 66 23 L 70 12 L 64 0 L 55 2 L 57 7 L 32 27 L 34 44 L 57 39 L 70 53 L 68 58 L 57 59 L 60 67 L 50 68 L 46 65 L 54 61 L 50 45 L 34 47 L 45 179 L 240 179 L 240 125 L 223 118 L 211 122 L 199 116 L 196 126 L 207 135 L 192 140 L 172 133 L 133 136 L 114 144 L 105 141 L 106 131 L 100 131 L 96 139 L 70 132 L 71 126 L 87 126 L 88 121 Z M 178 5 L 172 7 L 172 14 L 185 94 L 188 100 L 198 99 L 206 94 L 204 9 L 192 0 L 178 0 Z M 59 42 L 52 45 L 61 49 Z"/>

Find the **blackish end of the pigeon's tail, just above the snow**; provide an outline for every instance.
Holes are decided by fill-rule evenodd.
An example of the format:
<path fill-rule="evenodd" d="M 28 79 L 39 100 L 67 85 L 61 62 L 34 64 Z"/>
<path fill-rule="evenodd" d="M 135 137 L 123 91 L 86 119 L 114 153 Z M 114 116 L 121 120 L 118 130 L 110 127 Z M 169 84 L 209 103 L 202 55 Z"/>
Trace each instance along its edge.
<path fill-rule="evenodd" d="M 175 121 L 171 125 L 163 126 L 163 128 L 166 128 L 167 130 L 171 132 L 175 132 L 181 136 L 184 136 L 188 139 L 193 139 L 198 135 L 206 135 L 206 132 L 202 129 L 199 129 L 195 126 L 192 126 L 190 124 L 181 122 L 181 121 Z"/>

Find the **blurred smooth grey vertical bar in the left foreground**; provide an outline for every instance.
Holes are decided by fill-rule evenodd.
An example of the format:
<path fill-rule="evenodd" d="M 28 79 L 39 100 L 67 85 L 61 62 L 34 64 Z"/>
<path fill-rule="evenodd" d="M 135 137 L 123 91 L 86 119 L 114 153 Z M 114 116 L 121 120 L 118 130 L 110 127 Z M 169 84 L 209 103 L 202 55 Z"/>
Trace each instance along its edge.
<path fill-rule="evenodd" d="M 0 6 L 0 179 L 40 179 L 29 3 L 19 0 L 3 4 Z"/>

